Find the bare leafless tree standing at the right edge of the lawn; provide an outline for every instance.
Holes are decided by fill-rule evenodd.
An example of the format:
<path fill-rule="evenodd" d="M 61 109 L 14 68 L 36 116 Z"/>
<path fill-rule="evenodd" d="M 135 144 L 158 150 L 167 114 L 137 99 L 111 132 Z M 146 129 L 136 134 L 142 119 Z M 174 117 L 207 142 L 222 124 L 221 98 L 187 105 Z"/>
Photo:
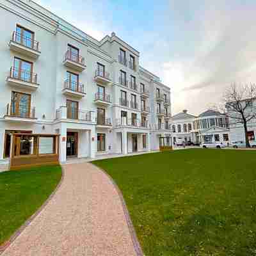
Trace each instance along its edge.
<path fill-rule="evenodd" d="M 223 95 L 223 112 L 230 118 L 230 124 L 242 124 L 246 139 L 246 147 L 250 147 L 248 138 L 248 122 L 256 118 L 255 84 L 231 84 Z M 254 103 L 254 104 L 253 104 Z"/>

